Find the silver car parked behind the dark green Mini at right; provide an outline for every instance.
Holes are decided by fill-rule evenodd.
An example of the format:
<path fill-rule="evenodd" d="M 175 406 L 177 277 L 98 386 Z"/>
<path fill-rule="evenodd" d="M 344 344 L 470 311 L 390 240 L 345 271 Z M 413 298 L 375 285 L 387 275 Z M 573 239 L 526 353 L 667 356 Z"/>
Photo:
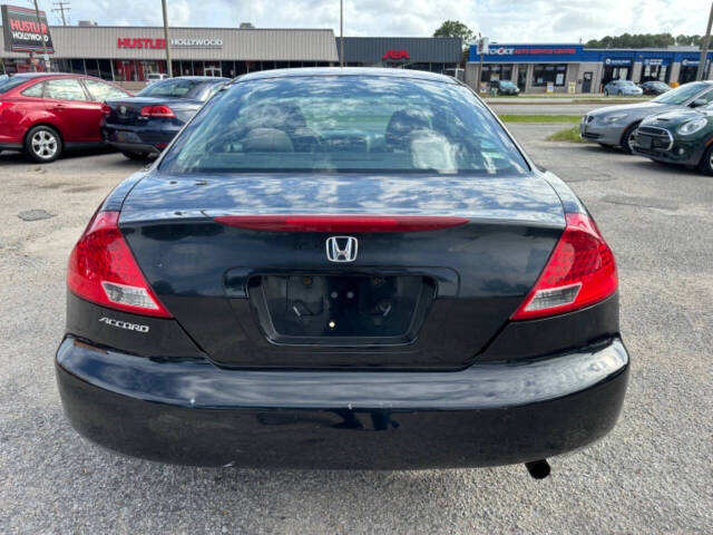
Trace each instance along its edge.
<path fill-rule="evenodd" d="M 579 135 L 604 146 L 621 146 L 632 153 L 632 142 L 644 117 L 683 107 L 696 108 L 713 101 L 713 80 L 692 81 L 647 103 L 606 106 L 582 118 Z"/>

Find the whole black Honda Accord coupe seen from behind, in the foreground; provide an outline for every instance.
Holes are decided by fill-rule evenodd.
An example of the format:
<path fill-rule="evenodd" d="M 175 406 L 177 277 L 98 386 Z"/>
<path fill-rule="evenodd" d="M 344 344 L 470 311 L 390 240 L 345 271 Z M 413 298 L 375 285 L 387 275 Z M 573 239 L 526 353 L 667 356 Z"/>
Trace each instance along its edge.
<path fill-rule="evenodd" d="M 544 477 L 626 390 L 597 225 L 430 72 L 237 78 L 104 201 L 67 284 L 67 417 L 147 459 Z"/>

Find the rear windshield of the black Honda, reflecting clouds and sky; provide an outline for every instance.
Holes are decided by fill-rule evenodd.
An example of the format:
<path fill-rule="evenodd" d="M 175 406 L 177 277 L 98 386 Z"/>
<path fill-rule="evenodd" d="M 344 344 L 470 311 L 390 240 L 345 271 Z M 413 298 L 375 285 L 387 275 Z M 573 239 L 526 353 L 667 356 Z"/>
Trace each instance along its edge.
<path fill-rule="evenodd" d="M 160 164 L 170 173 L 525 173 L 504 128 L 467 88 L 387 77 L 235 84 Z"/>

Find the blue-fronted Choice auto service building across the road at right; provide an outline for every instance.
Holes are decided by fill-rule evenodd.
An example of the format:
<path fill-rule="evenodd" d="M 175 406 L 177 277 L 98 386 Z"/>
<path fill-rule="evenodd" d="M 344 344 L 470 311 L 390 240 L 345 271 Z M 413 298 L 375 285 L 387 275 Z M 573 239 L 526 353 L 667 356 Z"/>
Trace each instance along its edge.
<path fill-rule="evenodd" d="M 524 93 L 600 93 L 614 80 L 685 84 L 695 79 L 701 51 L 694 47 L 594 49 L 583 45 L 490 45 L 482 58 L 482 82 L 512 80 Z M 713 51 L 705 78 L 713 78 Z M 480 55 L 471 46 L 466 81 L 476 87 Z"/>

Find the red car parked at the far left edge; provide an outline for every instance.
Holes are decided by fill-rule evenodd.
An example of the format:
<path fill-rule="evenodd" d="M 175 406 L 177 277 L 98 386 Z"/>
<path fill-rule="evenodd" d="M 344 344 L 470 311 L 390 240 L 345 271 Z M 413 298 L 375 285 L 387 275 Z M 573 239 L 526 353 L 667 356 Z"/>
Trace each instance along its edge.
<path fill-rule="evenodd" d="M 130 95 L 81 75 L 28 72 L 0 81 L 0 152 L 48 163 L 65 149 L 101 145 L 101 103 Z"/>

